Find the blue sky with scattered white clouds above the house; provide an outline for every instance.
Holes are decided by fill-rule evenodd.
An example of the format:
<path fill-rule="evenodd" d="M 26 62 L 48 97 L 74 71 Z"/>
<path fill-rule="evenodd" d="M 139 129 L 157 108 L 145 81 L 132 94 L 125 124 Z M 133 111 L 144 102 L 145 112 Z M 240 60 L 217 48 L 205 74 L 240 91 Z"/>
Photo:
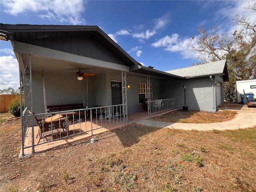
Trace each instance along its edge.
<path fill-rule="evenodd" d="M 0 0 L 4 24 L 96 25 L 144 66 L 167 71 L 192 66 L 199 26 L 231 34 L 235 14 L 256 18 L 234 0 Z M 192 38 L 193 37 L 193 38 Z M 10 41 L 0 41 L 0 90 L 19 87 L 18 62 Z"/>

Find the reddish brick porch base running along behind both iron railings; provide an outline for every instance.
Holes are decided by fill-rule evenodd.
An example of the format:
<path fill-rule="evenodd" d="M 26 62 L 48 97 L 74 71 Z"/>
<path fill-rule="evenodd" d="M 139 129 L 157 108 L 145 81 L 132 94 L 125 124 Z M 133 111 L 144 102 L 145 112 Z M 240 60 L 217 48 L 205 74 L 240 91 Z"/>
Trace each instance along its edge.
<path fill-rule="evenodd" d="M 162 112 L 152 114 L 151 117 L 158 116 L 160 114 L 171 112 L 177 109 L 178 108 L 164 110 Z M 33 154 L 33 150 L 35 153 L 40 153 L 43 151 L 57 148 L 64 144 L 70 144 L 72 142 L 76 142 L 78 140 L 85 140 L 85 142 L 89 142 L 91 138 L 93 138 L 94 136 L 97 137 L 98 134 L 102 134 L 104 132 L 120 128 L 124 125 L 132 124 L 134 122 L 147 119 L 148 112 L 145 111 L 145 112 L 136 112 L 136 113 L 129 114 L 128 120 L 125 123 L 116 122 L 116 124 L 112 124 L 110 126 L 104 126 L 106 125 L 105 123 L 108 121 L 106 119 L 104 120 L 105 121 L 104 124 L 102 123 L 102 121 L 100 121 L 100 123 L 102 123 L 101 124 L 102 126 L 100 126 L 100 124 L 98 124 L 97 118 L 98 117 L 94 116 L 92 118 L 92 123 L 90 121 L 81 122 L 81 123 L 71 122 L 68 130 L 68 132 L 71 132 L 70 135 L 67 135 L 67 132 L 58 132 L 55 134 L 43 136 L 43 138 L 40 139 L 40 138 L 36 138 L 38 130 L 40 129 L 39 126 L 28 128 L 26 132 L 25 141 L 24 141 L 24 146 L 28 146 L 28 147 L 24 148 L 24 152 L 22 152 L 22 150 L 20 151 L 20 157 Z M 31 145 L 32 143 L 38 143 L 38 144 L 35 144 L 34 146 L 32 146 Z"/>

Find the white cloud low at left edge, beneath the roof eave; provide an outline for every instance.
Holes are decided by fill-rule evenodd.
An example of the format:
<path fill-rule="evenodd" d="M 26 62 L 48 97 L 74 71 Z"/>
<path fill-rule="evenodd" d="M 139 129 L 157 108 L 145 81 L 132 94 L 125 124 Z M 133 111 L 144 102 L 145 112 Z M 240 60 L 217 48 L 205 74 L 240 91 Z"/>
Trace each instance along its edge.
<path fill-rule="evenodd" d="M 0 57 L 0 90 L 20 86 L 18 61 L 13 56 Z"/>

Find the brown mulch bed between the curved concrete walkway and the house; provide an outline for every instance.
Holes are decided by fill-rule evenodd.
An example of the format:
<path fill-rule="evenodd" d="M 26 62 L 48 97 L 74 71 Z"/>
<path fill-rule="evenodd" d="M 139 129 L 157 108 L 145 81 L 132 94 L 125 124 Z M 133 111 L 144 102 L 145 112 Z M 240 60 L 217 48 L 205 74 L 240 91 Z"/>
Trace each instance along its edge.
<path fill-rule="evenodd" d="M 152 117 L 150 120 L 170 123 L 217 123 L 232 120 L 236 112 L 232 110 L 219 110 L 216 113 L 206 111 L 182 110 L 172 111 L 160 116 Z"/>

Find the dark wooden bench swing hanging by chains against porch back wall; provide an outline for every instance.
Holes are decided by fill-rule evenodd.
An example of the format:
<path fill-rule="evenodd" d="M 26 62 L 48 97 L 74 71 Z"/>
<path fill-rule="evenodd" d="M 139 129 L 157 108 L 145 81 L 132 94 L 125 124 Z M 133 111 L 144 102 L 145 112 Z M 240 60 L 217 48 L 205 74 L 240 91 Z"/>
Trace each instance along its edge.
<path fill-rule="evenodd" d="M 61 111 L 68 111 L 68 110 L 76 110 L 76 109 L 84 109 L 84 105 L 82 103 L 76 103 L 76 104 L 64 104 L 64 105 L 50 105 L 47 106 L 47 111 L 50 112 L 61 112 Z M 86 115 L 88 116 L 89 111 L 86 111 Z M 69 116 L 73 118 L 73 115 L 75 118 L 79 116 L 79 112 L 67 112 L 67 113 L 60 113 L 62 116 Z M 84 116 L 85 111 L 80 111 L 80 116 Z"/>

